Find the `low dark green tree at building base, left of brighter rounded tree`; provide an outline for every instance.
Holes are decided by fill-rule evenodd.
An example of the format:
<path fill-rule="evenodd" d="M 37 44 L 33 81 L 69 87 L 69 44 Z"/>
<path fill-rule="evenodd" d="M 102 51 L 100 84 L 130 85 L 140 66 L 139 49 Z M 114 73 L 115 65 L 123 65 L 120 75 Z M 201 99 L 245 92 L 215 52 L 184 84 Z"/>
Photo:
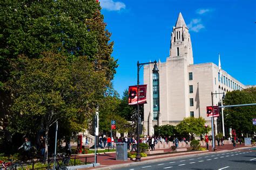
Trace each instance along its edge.
<path fill-rule="evenodd" d="M 154 126 L 154 134 L 156 136 L 166 136 L 166 137 L 169 137 L 169 136 L 173 136 L 174 134 L 176 134 L 176 129 L 175 129 L 175 126 L 173 125 L 162 125 L 162 126 Z"/>

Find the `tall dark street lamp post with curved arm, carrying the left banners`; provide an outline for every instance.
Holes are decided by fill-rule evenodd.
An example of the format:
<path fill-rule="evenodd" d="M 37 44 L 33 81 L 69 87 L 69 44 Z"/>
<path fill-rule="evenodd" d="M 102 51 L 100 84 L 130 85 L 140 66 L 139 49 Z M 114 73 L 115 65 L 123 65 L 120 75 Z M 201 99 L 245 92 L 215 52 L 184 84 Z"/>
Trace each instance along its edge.
<path fill-rule="evenodd" d="M 142 68 L 143 65 L 146 64 L 151 64 L 154 63 L 154 68 L 153 68 L 153 72 L 158 72 L 157 69 L 157 61 L 155 60 L 154 62 L 145 62 L 145 63 L 139 63 L 139 61 L 137 62 L 137 155 L 136 155 L 136 160 L 135 161 L 140 161 L 140 153 L 139 153 L 139 126 L 141 123 L 141 119 L 139 116 L 139 70 L 140 68 Z"/>

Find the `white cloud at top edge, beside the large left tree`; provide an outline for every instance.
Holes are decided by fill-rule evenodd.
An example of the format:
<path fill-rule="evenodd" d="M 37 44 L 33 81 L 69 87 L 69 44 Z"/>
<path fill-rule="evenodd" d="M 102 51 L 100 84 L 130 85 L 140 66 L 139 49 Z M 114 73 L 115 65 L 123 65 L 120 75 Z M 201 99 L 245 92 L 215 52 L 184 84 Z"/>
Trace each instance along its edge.
<path fill-rule="evenodd" d="M 99 0 L 99 2 L 103 9 L 109 11 L 120 11 L 121 9 L 125 9 L 125 4 L 123 2 L 113 2 L 113 0 Z"/>

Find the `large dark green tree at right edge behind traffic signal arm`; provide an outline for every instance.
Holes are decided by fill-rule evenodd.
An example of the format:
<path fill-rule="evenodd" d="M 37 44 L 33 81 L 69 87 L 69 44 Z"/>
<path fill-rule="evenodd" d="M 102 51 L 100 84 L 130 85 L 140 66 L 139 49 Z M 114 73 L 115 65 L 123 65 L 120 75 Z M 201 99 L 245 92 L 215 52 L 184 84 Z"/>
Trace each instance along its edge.
<path fill-rule="evenodd" d="M 242 91 L 235 90 L 227 92 L 224 105 L 256 103 L 256 88 L 248 88 Z M 232 107 L 224 109 L 224 121 L 228 128 L 235 129 L 237 134 L 253 134 L 256 127 L 252 119 L 256 117 L 256 106 Z"/>

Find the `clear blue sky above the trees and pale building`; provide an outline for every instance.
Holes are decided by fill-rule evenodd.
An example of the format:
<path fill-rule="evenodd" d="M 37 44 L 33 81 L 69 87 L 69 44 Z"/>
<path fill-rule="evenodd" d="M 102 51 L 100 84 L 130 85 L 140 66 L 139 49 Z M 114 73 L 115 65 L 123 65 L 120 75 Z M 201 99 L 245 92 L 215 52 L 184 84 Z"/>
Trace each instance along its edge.
<path fill-rule="evenodd" d="M 179 12 L 190 27 L 194 63 L 218 66 L 220 53 L 222 69 L 243 84 L 256 84 L 256 1 L 99 1 L 118 59 L 113 84 L 120 96 L 137 83 L 137 61 L 166 61 Z"/>

